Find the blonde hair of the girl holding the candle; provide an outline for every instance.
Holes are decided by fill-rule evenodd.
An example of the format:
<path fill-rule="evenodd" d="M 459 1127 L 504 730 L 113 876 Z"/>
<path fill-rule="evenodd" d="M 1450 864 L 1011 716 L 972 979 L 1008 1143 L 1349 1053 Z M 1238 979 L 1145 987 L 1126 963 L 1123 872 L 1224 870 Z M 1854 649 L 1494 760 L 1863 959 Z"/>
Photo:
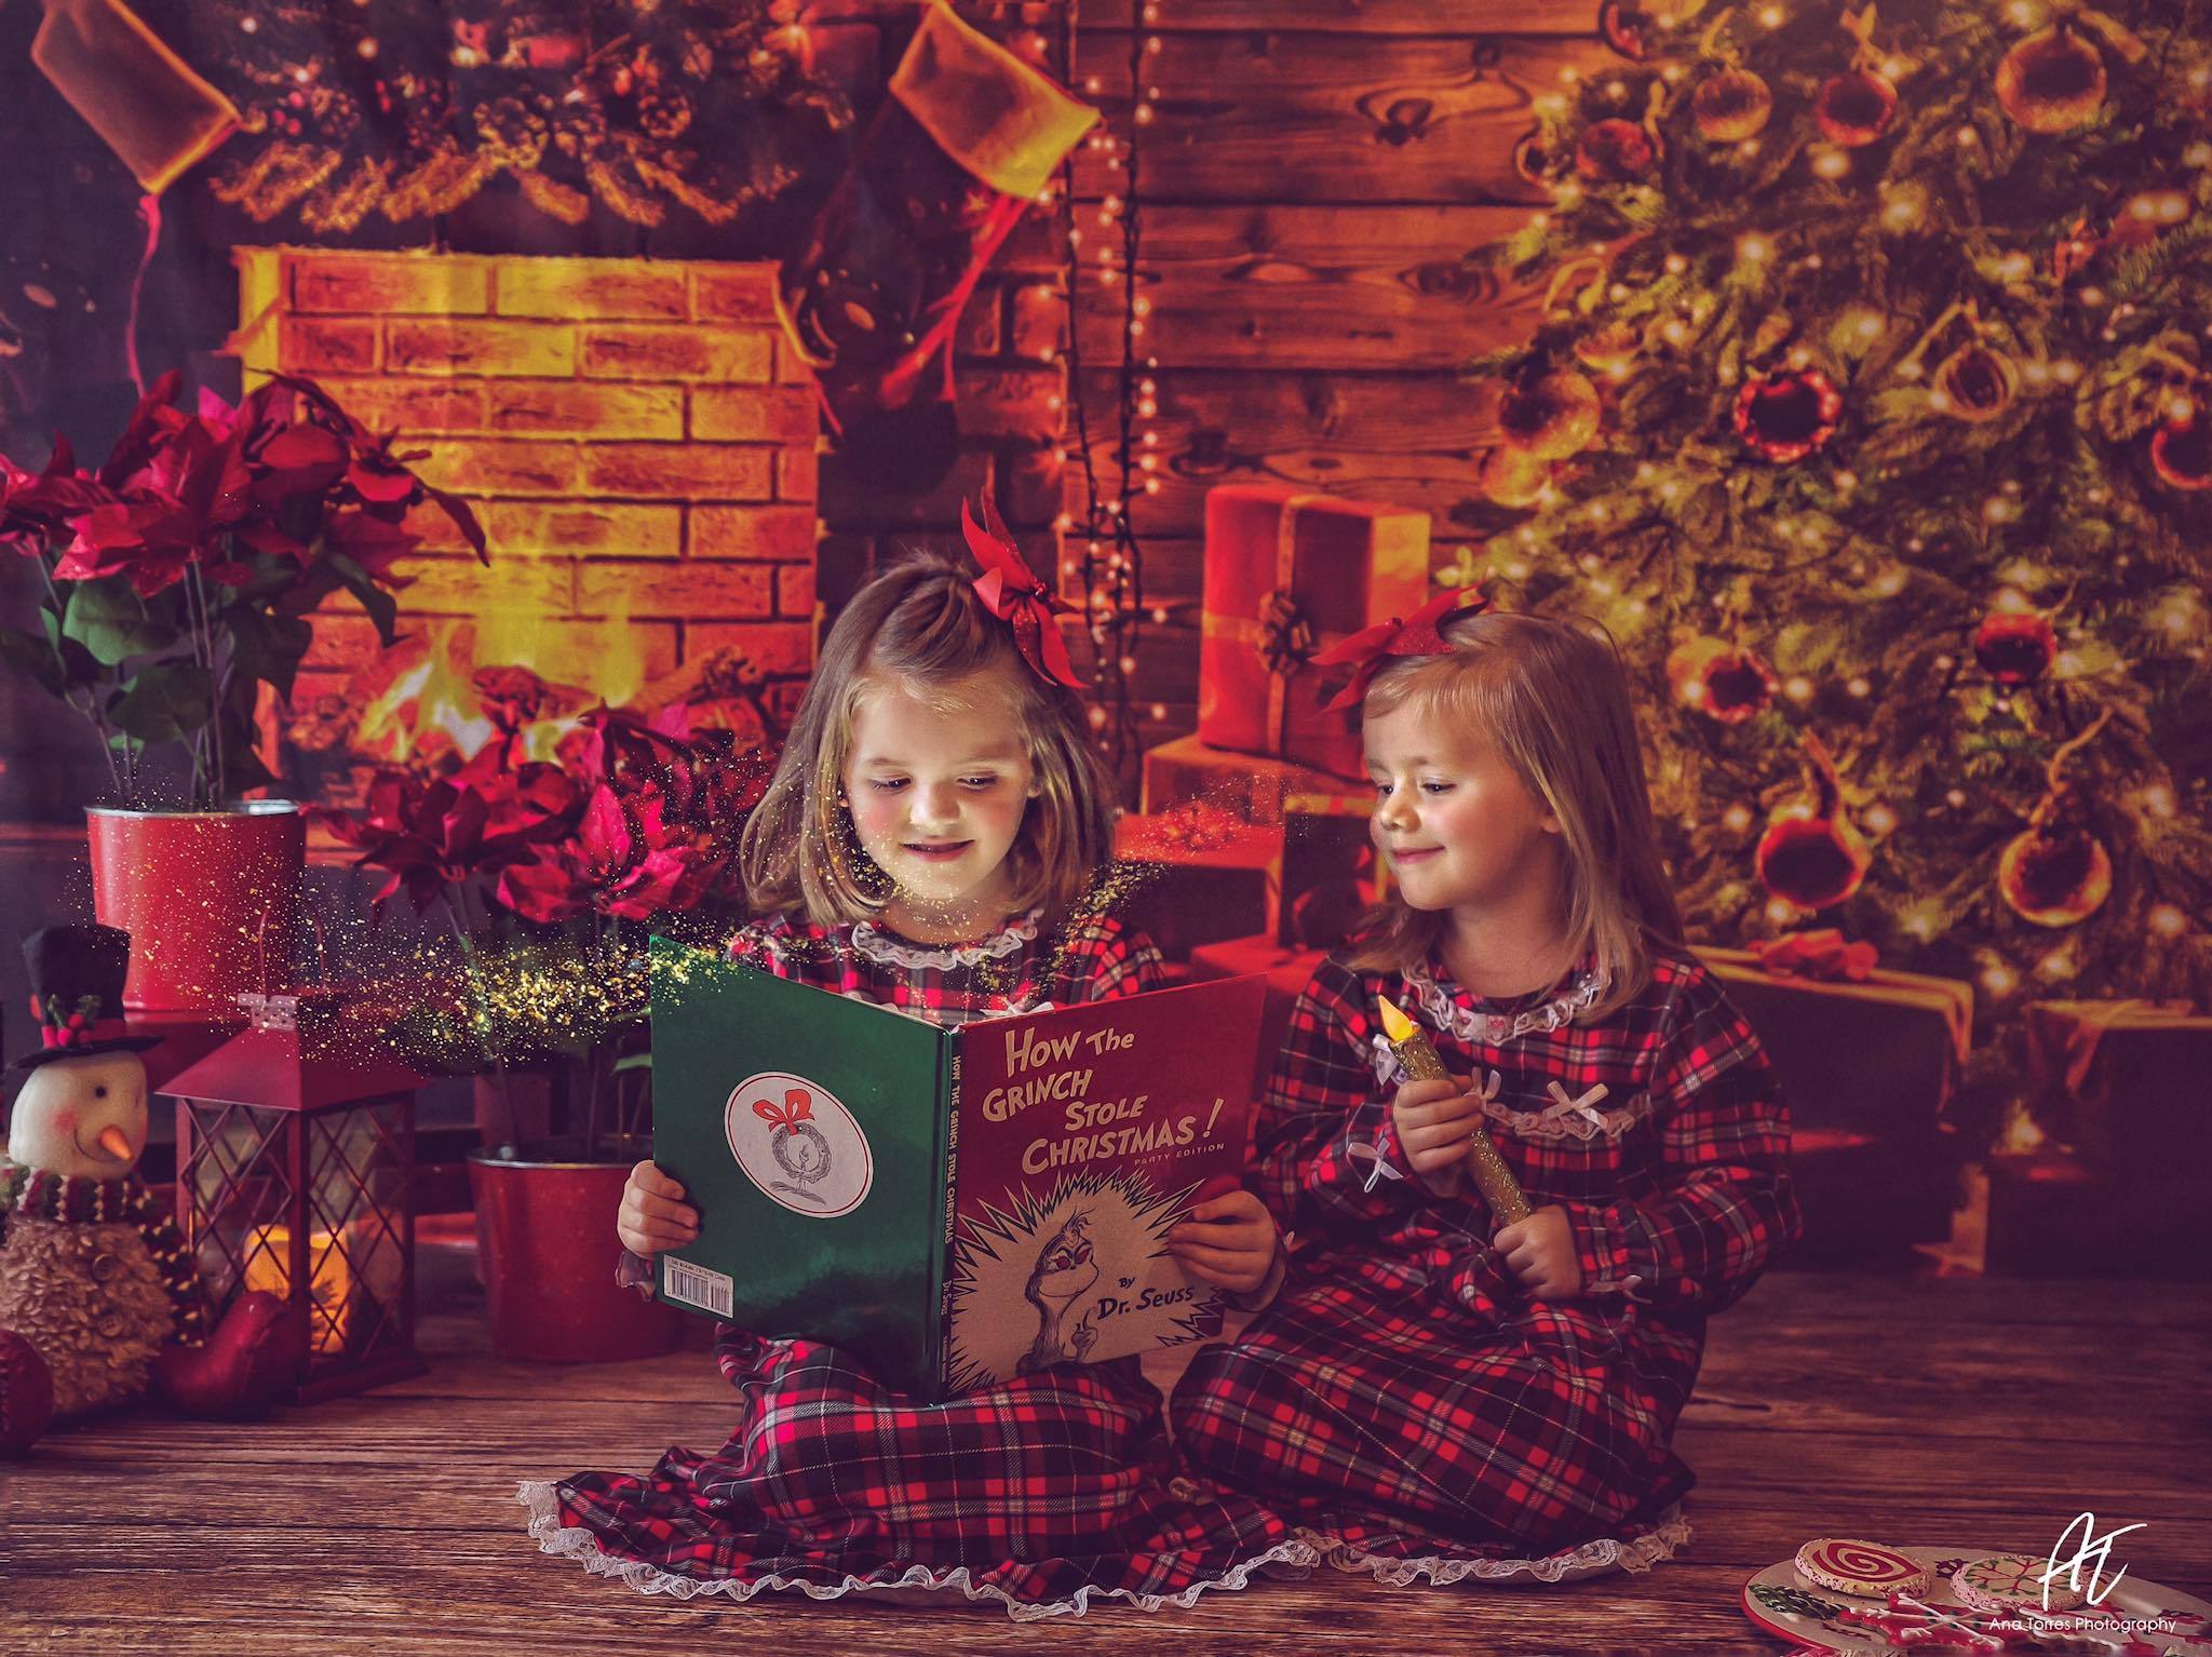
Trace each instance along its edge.
<path fill-rule="evenodd" d="M 1619 648 L 1597 622 L 1506 611 L 1447 622 L 1444 642 L 1444 655 L 1383 668 L 1360 712 L 1411 704 L 1480 734 L 1557 819 L 1568 936 L 1577 953 L 1597 956 L 1606 982 L 1584 1018 L 1604 1018 L 1644 989 L 1652 945 L 1681 947 Z M 1402 971 L 1442 931 L 1442 909 L 1413 909 L 1394 892 L 1349 962 Z"/>

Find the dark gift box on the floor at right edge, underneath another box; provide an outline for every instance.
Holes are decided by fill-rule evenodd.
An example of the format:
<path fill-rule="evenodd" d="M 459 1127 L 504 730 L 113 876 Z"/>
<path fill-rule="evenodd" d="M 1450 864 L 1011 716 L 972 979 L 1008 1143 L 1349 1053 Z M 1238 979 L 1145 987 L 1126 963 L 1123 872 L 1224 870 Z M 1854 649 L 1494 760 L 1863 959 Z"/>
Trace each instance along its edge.
<path fill-rule="evenodd" d="M 1984 1270 L 2004 1276 L 2212 1281 L 2212 1186 L 2121 1179 L 2044 1146 L 1989 1157 Z"/>

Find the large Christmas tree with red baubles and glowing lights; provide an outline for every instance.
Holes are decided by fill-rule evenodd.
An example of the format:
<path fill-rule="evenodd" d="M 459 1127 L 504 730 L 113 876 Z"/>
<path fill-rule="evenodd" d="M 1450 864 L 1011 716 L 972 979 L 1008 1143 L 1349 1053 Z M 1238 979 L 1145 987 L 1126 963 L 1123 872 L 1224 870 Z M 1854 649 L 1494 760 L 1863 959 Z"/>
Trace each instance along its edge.
<path fill-rule="evenodd" d="M 1462 575 L 1644 677 L 1692 934 L 2212 1000 L 2212 7 L 1604 9 Z"/>

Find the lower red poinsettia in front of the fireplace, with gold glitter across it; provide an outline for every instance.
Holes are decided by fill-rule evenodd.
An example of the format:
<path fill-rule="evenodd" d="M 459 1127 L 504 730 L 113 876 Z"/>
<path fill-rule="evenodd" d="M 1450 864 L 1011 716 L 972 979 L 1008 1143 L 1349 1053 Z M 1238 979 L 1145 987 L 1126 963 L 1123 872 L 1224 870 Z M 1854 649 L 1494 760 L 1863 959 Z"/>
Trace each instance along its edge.
<path fill-rule="evenodd" d="M 646 938 L 728 931 L 721 900 L 774 752 L 692 710 L 593 708 L 529 759 L 544 686 L 524 668 L 478 673 L 493 739 L 431 774 L 387 770 L 358 812 L 316 816 L 358 863 L 385 869 L 376 907 L 442 907 L 460 969 L 411 998 L 416 1049 L 445 1064 L 566 1057 L 582 1069 L 584 1155 L 641 1130 L 648 1062 Z M 511 1108 L 511 1106 L 509 1106 Z M 509 1142 L 515 1139 L 513 1122 Z"/>

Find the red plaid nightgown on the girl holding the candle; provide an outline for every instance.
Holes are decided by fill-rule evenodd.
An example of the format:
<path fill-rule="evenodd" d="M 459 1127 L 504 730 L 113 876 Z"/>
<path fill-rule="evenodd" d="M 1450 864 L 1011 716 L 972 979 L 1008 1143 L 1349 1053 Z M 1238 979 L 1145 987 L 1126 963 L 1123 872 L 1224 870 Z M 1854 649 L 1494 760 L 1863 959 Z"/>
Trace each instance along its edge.
<path fill-rule="evenodd" d="M 1453 1075 L 1495 1088 L 1484 1126 L 1531 1208 L 1566 1208 L 1582 1296 L 1531 1301 L 1473 1186 L 1431 1197 L 1405 1164 L 1378 991 Z M 1663 953 L 1610 1018 L 1566 1022 L 1593 998 L 1588 962 L 1486 1002 L 1433 960 L 1327 960 L 1292 1011 L 1259 1148 L 1296 1250 L 1237 1345 L 1199 1352 L 1170 1416 L 1199 1469 L 1336 1538 L 1338 1564 L 1555 1580 L 1564 1562 L 1641 1569 L 1688 1535 L 1661 1518 L 1694 1482 L 1668 1440 L 1705 1316 L 1798 1232 L 1787 1117 L 1756 1035 L 1690 956 Z"/>

